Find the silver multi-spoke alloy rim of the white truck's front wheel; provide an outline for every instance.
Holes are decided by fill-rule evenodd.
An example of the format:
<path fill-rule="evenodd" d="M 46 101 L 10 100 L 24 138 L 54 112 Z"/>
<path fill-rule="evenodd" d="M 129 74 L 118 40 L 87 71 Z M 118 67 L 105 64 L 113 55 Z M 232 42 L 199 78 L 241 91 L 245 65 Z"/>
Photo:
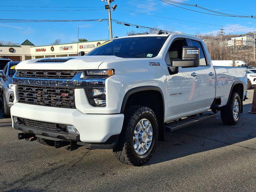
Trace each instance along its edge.
<path fill-rule="evenodd" d="M 151 146 L 153 129 L 149 120 L 142 119 L 135 127 L 133 133 L 134 150 L 139 155 L 144 155 Z"/>

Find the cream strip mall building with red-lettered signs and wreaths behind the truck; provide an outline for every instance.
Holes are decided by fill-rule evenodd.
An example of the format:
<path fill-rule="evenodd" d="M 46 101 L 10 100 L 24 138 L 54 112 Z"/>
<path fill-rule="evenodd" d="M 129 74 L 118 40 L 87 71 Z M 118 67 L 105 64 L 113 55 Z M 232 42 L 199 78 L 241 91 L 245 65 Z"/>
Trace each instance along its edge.
<path fill-rule="evenodd" d="M 29 40 L 20 45 L 0 45 L 0 58 L 10 58 L 13 61 L 24 61 L 36 58 L 77 56 L 78 52 L 90 52 L 106 40 L 87 41 L 80 43 L 34 46 Z"/>

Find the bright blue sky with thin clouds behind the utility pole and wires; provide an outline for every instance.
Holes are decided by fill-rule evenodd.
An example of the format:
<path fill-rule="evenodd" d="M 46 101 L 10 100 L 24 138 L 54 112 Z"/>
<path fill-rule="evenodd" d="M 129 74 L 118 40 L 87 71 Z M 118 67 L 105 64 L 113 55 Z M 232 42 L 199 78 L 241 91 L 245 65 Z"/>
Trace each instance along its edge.
<path fill-rule="evenodd" d="M 196 3 L 205 6 L 211 6 L 214 10 L 222 8 L 241 12 L 244 14 L 255 13 L 255 0 L 242 2 L 241 0 L 175 0 L 186 3 Z M 158 18 L 148 16 L 151 14 L 156 16 L 169 17 L 180 20 L 188 20 L 194 22 L 202 22 L 208 24 L 216 24 L 224 27 L 224 32 L 240 34 L 253 31 L 256 28 L 256 19 L 252 18 L 232 18 L 220 17 L 200 14 L 183 10 L 159 0 L 115 0 L 112 5 L 117 4 L 116 11 L 112 12 L 112 18 L 138 24 L 141 26 L 158 27 L 162 29 L 195 34 L 218 32 L 220 26 L 211 26 L 205 24 L 195 24 L 172 20 L 167 18 Z M 104 3 L 101 0 L 1 0 L 1 6 L 53 6 L 53 7 L 95 7 L 95 8 L 21 8 L 21 7 L 0 7 L 1 19 L 103 19 L 108 18 L 106 10 L 94 11 L 10 11 L 10 10 L 78 10 L 78 9 L 104 9 Z M 124 10 L 141 12 L 137 14 Z M 8 11 L 4 11 L 8 10 Z M 218 10 L 227 12 L 223 10 Z M 227 12 L 231 14 L 238 14 Z M 80 38 L 88 40 L 108 39 L 107 22 L 60 22 L 60 23 L 0 23 L 0 40 L 22 43 L 28 39 L 35 45 L 46 45 L 52 43 L 55 39 L 60 39 L 61 43 L 68 43 L 77 40 L 78 26 L 80 26 Z M 125 36 L 130 30 L 141 32 L 141 28 L 133 28 L 119 24 L 113 24 L 114 36 Z"/>

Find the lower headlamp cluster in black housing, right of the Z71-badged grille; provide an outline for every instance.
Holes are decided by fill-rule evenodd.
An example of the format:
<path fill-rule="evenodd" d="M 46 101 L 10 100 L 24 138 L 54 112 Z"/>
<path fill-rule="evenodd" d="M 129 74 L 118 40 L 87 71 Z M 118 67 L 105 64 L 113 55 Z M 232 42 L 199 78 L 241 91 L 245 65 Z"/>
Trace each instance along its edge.
<path fill-rule="evenodd" d="M 85 88 L 88 102 L 94 107 L 105 107 L 106 106 L 106 88 L 105 87 L 92 87 Z"/>

